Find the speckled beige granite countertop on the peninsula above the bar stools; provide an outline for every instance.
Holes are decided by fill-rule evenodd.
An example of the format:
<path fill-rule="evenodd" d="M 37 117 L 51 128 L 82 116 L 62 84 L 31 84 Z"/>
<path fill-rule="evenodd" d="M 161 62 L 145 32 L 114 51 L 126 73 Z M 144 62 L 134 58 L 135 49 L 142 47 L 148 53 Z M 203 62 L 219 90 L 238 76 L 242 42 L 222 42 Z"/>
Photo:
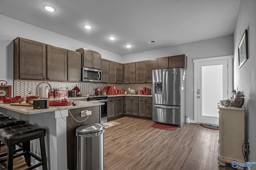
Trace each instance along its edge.
<path fill-rule="evenodd" d="M 72 101 L 72 100 L 70 100 Z M 25 104 L 26 102 L 22 102 Z M 76 101 L 76 106 L 49 106 L 49 109 L 33 109 L 33 107 L 29 106 L 10 106 L 10 104 L 4 104 L 0 102 L 0 107 L 9 109 L 12 111 L 17 111 L 19 113 L 23 113 L 26 115 L 36 114 L 36 113 L 46 113 L 50 111 L 57 111 L 57 110 L 66 110 L 66 109 L 76 109 L 81 107 L 90 107 L 90 106 L 99 106 L 104 105 L 104 103 L 100 102 L 87 102 L 87 101 Z"/>

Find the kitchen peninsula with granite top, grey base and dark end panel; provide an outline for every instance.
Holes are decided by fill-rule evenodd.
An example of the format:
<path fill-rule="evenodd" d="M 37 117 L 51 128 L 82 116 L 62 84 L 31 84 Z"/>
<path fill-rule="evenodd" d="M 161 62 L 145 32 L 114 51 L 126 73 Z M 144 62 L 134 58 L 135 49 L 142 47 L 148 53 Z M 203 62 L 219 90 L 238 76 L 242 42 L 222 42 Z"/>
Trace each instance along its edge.
<path fill-rule="evenodd" d="M 91 110 L 92 115 L 84 123 L 100 123 L 100 105 L 104 103 L 76 101 L 76 106 L 50 106 L 48 109 L 33 109 L 27 106 L 10 106 L 10 104 L 0 103 L 0 112 L 19 120 L 24 120 L 37 127 L 46 129 L 45 145 L 48 170 L 66 170 L 70 161 L 70 153 L 76 153 L 76 150 L 68 150 L 70 146 L 68 141 L 70 134 L 75 132 L 76 127 L 70 113 L 79 121 L 86 117 L 81 117 L 81 110 Z M 70 121 L 72 120 L 72 121 Z M 69 127 L 69 125 L 71 127 Z M 81 125 L 81 122 L 79 123 Z M 73 128 L 74 127 L 74 128 Z M 68 131 L 68 129 L 70 129 Z M 74 134 L 73 134 L 74 135 Z M 72 136 L 72 135 L 71 135 Z M 71 139 L 72 141 L 73 139 Z M 74 140 L 73 140 L 74 141 Z M 31 142 L 31 151 L 39 154 L 39 141 Z M 67 152 L 68 150 L 68 152 Z M 32 160 L 33 162 L 33 160 Z M 74 162 L 72 162 L 74 163 Z M 70 163 L 71 164 L 71 163 Z M 38 169 L 40 169 L 39 167 Z"/>

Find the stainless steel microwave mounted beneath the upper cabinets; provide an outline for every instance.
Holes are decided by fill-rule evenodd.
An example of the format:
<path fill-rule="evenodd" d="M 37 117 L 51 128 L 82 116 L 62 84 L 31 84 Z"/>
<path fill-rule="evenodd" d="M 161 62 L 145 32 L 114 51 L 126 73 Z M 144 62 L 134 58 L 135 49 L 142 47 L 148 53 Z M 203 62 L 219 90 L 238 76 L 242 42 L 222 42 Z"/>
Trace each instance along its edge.
<path fill-rule="evenodd" d="M 83 82 L 101 82 L 101 70 L 82 67 Z"/>

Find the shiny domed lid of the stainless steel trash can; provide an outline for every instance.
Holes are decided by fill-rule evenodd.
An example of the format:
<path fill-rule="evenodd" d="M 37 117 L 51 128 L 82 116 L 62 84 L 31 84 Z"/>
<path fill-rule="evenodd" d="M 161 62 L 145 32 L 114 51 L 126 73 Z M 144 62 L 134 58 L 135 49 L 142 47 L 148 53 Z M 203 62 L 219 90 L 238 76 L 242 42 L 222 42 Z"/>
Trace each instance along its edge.
<path fill-rule="evenodd" d="M 96 133 L 98 131 L 102 131 L 104 129 L 104 125 L 100 123 L 92 123 L 84 126 L 80 126 L 76 128 L 76 133 L 78 134 L 87 134 L 87 133 Z"/>

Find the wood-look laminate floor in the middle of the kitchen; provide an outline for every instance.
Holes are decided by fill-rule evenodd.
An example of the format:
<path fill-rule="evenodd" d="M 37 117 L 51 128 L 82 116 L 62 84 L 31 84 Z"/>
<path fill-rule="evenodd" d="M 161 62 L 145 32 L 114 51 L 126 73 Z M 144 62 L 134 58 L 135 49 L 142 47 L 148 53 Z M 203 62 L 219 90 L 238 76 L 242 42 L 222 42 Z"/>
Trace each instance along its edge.
<path fill-rule="evenodd" d="M 122 117 L 104 133 L 105 170 L 234 170 L 218 165 L 219 131 L 185 123 L 175 131 Z"/>

